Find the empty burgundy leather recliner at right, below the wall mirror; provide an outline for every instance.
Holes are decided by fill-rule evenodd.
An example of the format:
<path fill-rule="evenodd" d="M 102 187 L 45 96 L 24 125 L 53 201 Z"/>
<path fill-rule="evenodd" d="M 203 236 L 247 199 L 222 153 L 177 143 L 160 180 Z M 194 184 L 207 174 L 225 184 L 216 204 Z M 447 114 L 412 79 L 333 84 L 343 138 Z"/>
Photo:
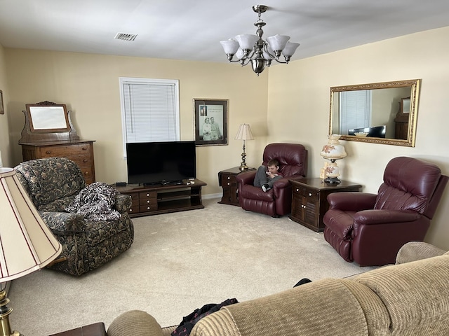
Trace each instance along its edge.
<path fill-rule="evenodd" d="M 433 163 L 391 159 L 377 195 L 328 195 L 324 238 L 348 262 L 394 263 L 403 244 L 424 239 L 448 179 Z"/>

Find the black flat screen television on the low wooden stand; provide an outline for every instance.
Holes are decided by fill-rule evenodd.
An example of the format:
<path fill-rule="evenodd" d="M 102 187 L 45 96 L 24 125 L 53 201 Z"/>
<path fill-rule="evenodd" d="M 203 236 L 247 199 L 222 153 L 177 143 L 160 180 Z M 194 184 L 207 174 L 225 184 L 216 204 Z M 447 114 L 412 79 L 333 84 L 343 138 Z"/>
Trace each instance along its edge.
<path fill-rule="evenodd" d="M 196 178 L 195 141 L 126 144 L 128 183 L 177 184 Z"/>

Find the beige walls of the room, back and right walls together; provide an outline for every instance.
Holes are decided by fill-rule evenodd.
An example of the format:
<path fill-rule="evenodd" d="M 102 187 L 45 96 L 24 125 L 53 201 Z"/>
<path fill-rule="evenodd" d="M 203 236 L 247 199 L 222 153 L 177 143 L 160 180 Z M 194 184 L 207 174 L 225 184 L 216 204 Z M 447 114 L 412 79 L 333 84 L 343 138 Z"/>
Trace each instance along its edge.
<path fill-rule="evenodd" d="M 265 144 L 302 143 L 309 149 L 309 176 L 319 176 L 326 144 L 331 86 L 422 78 L 415 148 L 342 141 L 348 157 L 340 160 L 342 179 L 363 184 L 375 193 L 387 162 L 407 155 L 435 162 L 449 174 L 443 134 L 448 125 L 445 92 L 449 89 L 449 27 L 362 45 L 326 55 L 276 65 L 260 77 L 236 64 L 114 57 L 72 52 L 0 50 L 0 74 L 8 74 L 11 118 L 11 164 L 21 161 L 20 132 L 25 104 L 50 100 L 72 109 L 72 120 L 84 139 L 95 142 L 98 181 L 126 180 L 121 153 L 119 77 L 180 80 L 182 139 L 193 139 L 193 98 L 229 99 L 228 146 L 197 148 L 198 177 L 208 183 L 204 194 L 221 192 L 217 172 L 240 163 L 241 141 L 234 136 L 250 123 L 254 141 L 247 141 L 247 162 L 260 164 Z M 300 52 L 298 49 L 297 52 Z M 0 81 L 1 85 L 1 81 Z M 0 127 L 4 127 L 0 116 Z M 1 145 L 0 145 L 1 146 Z M 432 221 L 426 240 L 449 249 L 449 188 Z"/>

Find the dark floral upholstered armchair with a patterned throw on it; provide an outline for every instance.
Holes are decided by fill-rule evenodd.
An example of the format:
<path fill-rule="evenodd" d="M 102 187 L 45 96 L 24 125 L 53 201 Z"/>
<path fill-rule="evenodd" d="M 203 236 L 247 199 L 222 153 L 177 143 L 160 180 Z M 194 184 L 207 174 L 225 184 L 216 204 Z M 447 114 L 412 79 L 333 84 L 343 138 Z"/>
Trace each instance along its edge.
<path fill-rule="evenodd" d="M 114 219 L 92 220 L 91 216 L 85 218 L 83 214 L 67 212 L 66 209 L 73 208 L 76 196 L 88 188 L 81 169 L 72 160 L 31 160 L 22 162 L 15 170 L 43 221 L 62 244 L 60 258 L 65 260 L 51 268 L 79 276 L 104 265 L 133 243 L 134 227 L 127 212 L 131 204 L 128 195 L 113 194 Z"/>

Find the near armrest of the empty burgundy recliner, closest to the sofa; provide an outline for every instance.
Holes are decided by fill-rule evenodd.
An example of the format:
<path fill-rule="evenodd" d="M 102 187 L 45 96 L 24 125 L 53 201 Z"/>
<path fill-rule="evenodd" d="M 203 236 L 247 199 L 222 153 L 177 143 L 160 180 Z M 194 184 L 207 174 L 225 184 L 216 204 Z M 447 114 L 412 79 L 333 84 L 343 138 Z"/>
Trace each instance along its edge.
<path fill-rule="evenodd" d="M 356 225 L 376 225 L 384 223 L 413 222 L 420 219 L 421 215 L 413 210 L 387 210 L 371 209 L 358 211 L 354 214 L 354 226 Z"/>

